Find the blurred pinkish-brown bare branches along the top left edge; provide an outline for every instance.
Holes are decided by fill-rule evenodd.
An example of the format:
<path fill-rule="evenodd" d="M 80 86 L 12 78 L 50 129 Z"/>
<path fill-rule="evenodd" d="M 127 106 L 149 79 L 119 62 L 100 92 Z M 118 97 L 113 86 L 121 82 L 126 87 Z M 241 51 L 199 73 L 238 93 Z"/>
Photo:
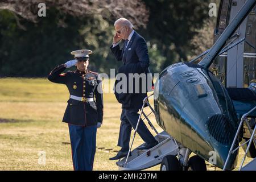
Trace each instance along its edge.
<path fill-rule="evenodd" d="M 72 16 L 102 15 L 103 18 L 118 19 L 125 17 L 135 27 L 146 27 L 148 10 L 142 0 L 1 0 L 0 10 L 10 10 L 31 22 L 38 22 L 38 4 L 45 3 L 47 9 L 55 7 L 57 10 Z"/>

